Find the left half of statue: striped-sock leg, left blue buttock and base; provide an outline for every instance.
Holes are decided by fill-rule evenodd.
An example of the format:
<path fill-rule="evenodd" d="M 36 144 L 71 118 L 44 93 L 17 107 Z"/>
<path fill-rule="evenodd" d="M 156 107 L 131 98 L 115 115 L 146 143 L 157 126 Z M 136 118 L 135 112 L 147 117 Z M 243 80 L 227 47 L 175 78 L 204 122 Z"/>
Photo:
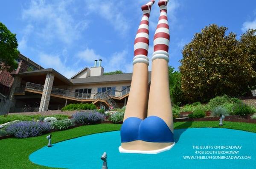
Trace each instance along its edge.
<path fill-rule="evenodd" d="M 148 108 L 148 19 L 154 0 L 142 6 L 143 17 L 134 42 L 133 76 L 124 123 L 121 127 L 120 149 L 140 149 L 138 141 L 140 122 L 147 116 Z M 129 121 L 132 119 L 131 121 Z"/>

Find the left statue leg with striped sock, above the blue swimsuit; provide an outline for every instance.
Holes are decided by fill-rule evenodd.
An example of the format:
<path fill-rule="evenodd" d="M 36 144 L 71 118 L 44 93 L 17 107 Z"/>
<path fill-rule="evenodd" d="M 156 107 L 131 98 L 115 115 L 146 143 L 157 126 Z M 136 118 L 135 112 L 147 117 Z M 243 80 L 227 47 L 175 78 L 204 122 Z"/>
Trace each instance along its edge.
<path fill-rule="evenodd" d="M 144 119 L 148 107 L 148 18 L 154 0 L 142 6 L 143 17 L 134 41 L 133 76 L 125 119 L 137 117 Z"/>

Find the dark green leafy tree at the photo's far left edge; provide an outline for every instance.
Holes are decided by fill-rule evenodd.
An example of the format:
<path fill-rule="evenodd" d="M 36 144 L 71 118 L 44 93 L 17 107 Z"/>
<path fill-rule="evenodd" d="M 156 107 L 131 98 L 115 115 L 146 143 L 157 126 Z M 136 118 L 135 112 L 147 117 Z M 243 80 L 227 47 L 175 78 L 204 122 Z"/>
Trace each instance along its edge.
<path fill-rule="evenodd" d="M 0 23 L 0 70 L 12 71 L 17 68 L 19 51 L 16 34 L 12 34 L 3 23 Z"/>

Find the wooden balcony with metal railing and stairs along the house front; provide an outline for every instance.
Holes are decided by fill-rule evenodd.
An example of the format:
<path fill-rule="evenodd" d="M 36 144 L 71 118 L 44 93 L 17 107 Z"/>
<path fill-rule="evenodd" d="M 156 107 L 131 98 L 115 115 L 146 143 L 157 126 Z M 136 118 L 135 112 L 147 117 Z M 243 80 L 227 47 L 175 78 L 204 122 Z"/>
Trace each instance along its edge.
<path fill-rule="evenodd" d="M 42 94 L 44 90 L 44 85 L 39 85 L 31 82 L 26 82 L 26 86 L 24 87 L 16 87 L 15 95 L 25 95 L 25 91 L 32 93 Z M 107 90 L 106 92 L 98 92 L 98 93 L 78 93 L 71 90 L 64 90 L 52 87 L 51 96 L 59 97 L 63 99 L 71 99 L 76 101 L 92 101 L 93 104 L 97 102 L 102 102 L 106 106 L 111 108 L 117 108 L 116 101 L 114 99 L 123 99 L 128 96 L 130 91 L 130 87 L 125 88 L 122 91 L 118 90 Z"/>

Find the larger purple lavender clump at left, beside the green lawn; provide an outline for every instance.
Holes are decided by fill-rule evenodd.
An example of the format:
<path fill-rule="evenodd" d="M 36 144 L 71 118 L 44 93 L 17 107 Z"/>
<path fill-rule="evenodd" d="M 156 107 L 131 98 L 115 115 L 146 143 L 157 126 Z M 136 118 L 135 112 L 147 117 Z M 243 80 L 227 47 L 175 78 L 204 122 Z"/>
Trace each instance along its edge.
<path fill-rule="evenodd" d="M 41 135 L 43 132 L 47 132 L 50 129 L 51 126 L 49 123 L 21 121 L 9 125 L 6 128 L 6 132 L 10 135 L 14 135 L 17 138 L 28 138 Z"/>

